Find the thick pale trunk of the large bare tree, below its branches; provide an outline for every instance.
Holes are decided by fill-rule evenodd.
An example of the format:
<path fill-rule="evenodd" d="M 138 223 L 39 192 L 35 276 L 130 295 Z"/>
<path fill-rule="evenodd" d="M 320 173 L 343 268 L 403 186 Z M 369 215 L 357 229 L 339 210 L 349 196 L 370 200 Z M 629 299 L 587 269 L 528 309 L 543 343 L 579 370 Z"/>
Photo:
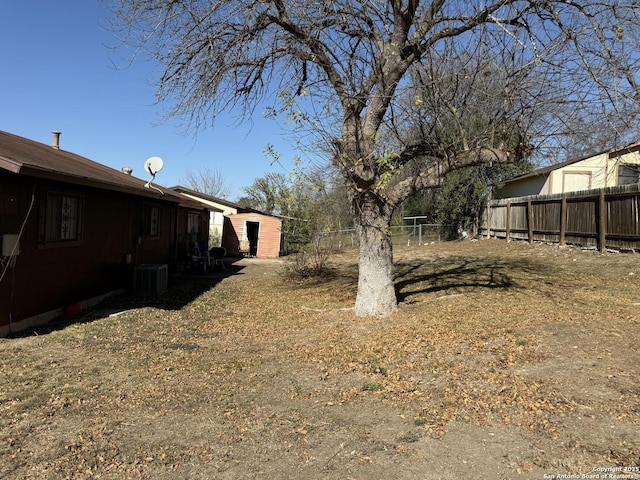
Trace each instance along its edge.
<path fill-rule="evenodd" d="M 371 203 L 357 205 L 355 216 L 360 249 L 355 312 L 361 317 L 384 317 L 398 306 L 393 284 L 390 215 Z"/>

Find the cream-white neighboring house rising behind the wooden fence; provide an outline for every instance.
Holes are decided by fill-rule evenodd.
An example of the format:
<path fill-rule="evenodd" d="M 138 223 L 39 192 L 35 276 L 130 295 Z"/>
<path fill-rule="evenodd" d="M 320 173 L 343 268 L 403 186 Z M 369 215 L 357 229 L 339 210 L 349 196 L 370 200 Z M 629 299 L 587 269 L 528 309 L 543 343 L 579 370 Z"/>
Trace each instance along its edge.
<path fill-rule="evenodd" d="M 494 198 L 575 192 L 639 180 L 640 142 L 637 142 L 520 175 L 497 189 Z"/>

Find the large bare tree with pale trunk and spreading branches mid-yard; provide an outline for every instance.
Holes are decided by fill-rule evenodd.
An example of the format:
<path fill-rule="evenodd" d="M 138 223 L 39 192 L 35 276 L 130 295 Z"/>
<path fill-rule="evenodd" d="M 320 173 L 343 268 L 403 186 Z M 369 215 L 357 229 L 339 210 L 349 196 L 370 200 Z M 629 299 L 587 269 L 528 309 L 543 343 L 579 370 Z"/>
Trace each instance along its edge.
<path fill-rule="evenodd" d="M 358 315 L 397 306 L 388 227 L 403 200 L 449 171 L 524 156 L 543 133 L 534 127 L 565 128 L 555 106 L 634 111 L 640 96 L 637 0 L 112 1 L 123 41 L 163 65 L 158 100 L 170 115 L 204 128 L 223 110 L 250 114 L 276 92 L 278 108 L 317 134 L 349 189 Z M 493 123 L 456 125 L 473 101 L 445 102 L 459 98 L 441 75 L 449 62 L 471 85 L 481 86 L 483 62 L 504 79 Z M 437 108 L 399 101 L 416 93 L 416 79 L 441 92 Z M 455 138 L 439 128 L 444 111 Z M 540 111 L 548 115 L 530 121 Z"/>

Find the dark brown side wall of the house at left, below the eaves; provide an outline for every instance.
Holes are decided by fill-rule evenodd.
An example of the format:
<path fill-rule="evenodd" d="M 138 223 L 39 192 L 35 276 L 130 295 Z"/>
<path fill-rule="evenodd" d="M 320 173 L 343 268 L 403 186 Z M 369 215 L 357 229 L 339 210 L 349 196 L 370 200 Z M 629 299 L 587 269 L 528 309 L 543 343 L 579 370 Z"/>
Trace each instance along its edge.
<path fill-rule="evenodd" d="M 45 239 L 52 194 L 80 199 L 78 240 Z M 19 254 L 0 255 L 0 336 L 19 330 L 24 319 L 131 288 L 135 265 L 174 263 L 177 211 L 177 203 L 160 195 L 144 198 L 0 170 L 0 236 L 22 228 Z"/>

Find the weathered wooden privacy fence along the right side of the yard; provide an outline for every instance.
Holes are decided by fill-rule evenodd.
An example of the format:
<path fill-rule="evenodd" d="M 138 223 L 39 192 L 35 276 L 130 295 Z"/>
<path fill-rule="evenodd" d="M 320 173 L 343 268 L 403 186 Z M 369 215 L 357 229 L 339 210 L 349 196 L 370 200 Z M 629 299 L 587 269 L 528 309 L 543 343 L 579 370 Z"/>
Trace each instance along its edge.
<path fill-rule="evenodd" d="M 480 227 L 488 237 L 640 249 L 640 185 L 489 202 Z"/>

